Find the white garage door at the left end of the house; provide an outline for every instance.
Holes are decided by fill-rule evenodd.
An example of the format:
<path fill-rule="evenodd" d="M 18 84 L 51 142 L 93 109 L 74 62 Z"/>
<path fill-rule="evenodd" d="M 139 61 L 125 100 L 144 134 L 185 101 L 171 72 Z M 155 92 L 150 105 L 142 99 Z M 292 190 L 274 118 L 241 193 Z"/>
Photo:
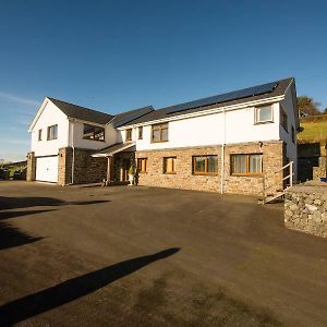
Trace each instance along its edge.
<path fill-rule="evenodd" d="M 58 156 L 36 158 L 37 181 L 58 182 Z"/>

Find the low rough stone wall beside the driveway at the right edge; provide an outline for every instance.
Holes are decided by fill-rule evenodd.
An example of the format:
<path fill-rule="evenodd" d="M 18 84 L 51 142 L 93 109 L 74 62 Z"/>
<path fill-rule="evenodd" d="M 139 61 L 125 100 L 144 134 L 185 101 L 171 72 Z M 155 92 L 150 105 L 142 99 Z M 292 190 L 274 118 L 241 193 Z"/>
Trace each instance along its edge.
<path fill-rule="evenodd" d="M 327 183 L 306 182 L 287 190 L 284 226 L 327 238 Z"/>

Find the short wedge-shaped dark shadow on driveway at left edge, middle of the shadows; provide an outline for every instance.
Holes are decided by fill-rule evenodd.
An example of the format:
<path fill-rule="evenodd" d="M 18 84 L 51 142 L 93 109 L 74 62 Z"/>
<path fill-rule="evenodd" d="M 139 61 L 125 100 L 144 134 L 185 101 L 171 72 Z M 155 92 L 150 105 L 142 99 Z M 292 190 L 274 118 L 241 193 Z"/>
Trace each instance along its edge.
<path fill-rule="evenodd" d="M 31 237 L 25 232 L 20 231 L 19 228 L 15 228 L 8 222 L 0 221 L 0 251 L 34 243 L 39 240 L 43 240 L 43 238 Z M 0 326 L 2 326 L 1 319 Z"/>

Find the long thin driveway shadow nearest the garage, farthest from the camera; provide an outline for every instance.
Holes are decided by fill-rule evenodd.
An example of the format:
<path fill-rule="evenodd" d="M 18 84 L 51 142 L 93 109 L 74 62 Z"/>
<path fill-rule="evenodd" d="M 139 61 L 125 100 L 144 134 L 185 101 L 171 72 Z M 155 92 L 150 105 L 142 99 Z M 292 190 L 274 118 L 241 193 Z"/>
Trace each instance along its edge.
<path fill-rule="evenodd" d="M 110 202 L 109 199 L 68 202 L 55 197 L 10 197 L 0 196 L 0 210 L 38 206 L 92 205 Z"/>

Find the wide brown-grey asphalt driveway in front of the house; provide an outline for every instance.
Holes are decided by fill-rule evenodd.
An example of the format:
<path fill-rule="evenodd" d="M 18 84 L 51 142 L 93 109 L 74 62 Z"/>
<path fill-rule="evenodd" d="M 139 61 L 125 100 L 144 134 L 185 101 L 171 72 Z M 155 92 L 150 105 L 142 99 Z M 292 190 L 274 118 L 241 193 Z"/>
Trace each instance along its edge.
<path fill-rule="evenodd" d="M 0 326 L 327 326 L 327 240 L 280 205 L 0 182 Z"/>

